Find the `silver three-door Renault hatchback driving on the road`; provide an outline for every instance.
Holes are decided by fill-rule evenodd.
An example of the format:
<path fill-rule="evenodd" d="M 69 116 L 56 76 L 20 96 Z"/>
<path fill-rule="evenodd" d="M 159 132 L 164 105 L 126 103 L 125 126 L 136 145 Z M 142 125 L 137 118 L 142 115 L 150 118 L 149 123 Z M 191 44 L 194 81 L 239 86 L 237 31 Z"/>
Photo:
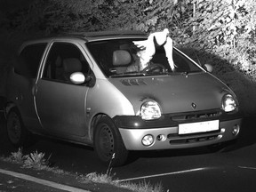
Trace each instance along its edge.
<path fill-rule="evenodd" d="M 92 146 L 111 166 L 130 151 L 236 140 L 236 94 L 170 37 L 151 37 L 154 47 L 147 34 L 122 30 L 24 42 L 6 85 L 9 140 L 25 146 L 37 134 Z"/>

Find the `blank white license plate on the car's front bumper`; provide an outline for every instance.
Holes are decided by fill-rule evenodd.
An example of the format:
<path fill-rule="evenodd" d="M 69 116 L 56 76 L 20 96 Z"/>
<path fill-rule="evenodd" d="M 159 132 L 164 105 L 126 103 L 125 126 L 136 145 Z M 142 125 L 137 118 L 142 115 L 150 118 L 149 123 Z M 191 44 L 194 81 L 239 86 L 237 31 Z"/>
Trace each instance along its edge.
<path fill-rule="evenodd" d="M 179 134 L 191 134 L 196 132 L 212 132 L 219 130 L 219 120 L 179 124 Z"/>

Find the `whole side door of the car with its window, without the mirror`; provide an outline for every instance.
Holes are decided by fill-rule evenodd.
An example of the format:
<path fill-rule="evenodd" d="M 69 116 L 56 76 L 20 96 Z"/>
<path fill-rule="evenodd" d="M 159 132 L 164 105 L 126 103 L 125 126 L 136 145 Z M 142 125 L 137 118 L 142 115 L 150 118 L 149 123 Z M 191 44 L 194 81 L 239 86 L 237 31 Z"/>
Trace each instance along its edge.
<path fill-rule="evenodd" d="M 58 137 L 86 135 L 84 84 L 72 84 L 73 72 L 88 73 L 88 62 L 76 44 L 55 42 L 48 53 L 42 78 L 36 84 L 36 108 L 46 132 Z"/>

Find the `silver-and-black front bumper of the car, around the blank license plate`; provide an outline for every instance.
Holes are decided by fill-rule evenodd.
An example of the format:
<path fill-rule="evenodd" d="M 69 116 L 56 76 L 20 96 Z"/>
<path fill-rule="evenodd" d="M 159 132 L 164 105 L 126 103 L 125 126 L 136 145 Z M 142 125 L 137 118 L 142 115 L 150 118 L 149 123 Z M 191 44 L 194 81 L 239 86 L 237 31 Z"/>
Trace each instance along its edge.
<path fill-rule="evenodd" d="M 220 117 L 220 116 L 219 116 Z M 122 118 L 121 118 L 122 119 Z M 240 128 L 242 125 L 242 118 L 236 116 L 236 118 L 205 118 L 204 121 L 218 119 L 220 121 L 219 130 L 213 132 L 197 132 L 191 134 L 179 135 L 179 122 L 173 121 L 171 126 L 156 126 L 146 127 L 142 126 L 140 121 L 130 121 L 124 124 L 130 124 L 131 127 L 118 126 L 118 121 L 116 125 L 119 128 L 119 132 L 124 140 L 124 146 L 128 150 L 156 150 L 156 149 L 174 149 L 174 148 L 196 148 L 203 147 L 212 144 L 218 144 L 228 140 L 236 140 L 238 132 L 234 134 L 234 128 Z M 131 120 L 131 119 L 130 119 Z M 201 120 L 201 122 L 204 122 Z M 161 122 L 161 123 L 160 123 Z M 199 122 L 186 120 L 185 122 Z M 149 122 L 148 122 L 149 123 Z M 148 124 L 146 123 L 146 124 Z M 164 125 L 163 121 L 159 121 L 160 125 Z M 132 126 L 133 124 L 133 126 Z M 119 124 L 121 125 L 121 124 Z M 146 147 L 142 144 L 141 140 L 145 135 L 152 135 L 154 142 L 152 145 Z M 164 140 L 157 140 L 159 135 L 164 136 Z M 162 137 L 163 138 L 163 137 Z"/>

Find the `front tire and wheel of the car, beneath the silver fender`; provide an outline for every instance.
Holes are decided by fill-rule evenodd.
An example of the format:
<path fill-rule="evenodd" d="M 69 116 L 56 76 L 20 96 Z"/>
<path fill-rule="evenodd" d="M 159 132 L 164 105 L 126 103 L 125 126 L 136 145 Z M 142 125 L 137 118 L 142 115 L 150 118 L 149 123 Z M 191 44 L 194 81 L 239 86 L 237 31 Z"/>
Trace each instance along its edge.
<path fill-rule="evenodd" d="M 101 117 L 96 124 L 93 142 L 94 150 L 103 164 L 115 167 L 126 163 L 128 150 L 124 147 L 120 132 L 108 116 Z"/>

